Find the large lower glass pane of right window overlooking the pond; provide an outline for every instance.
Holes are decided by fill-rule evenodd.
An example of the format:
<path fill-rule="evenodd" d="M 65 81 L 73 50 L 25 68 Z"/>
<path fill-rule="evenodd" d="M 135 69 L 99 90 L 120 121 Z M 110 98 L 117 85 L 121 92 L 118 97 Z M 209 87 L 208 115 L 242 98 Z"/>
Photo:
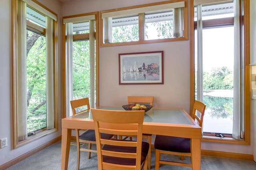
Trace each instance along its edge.
<path fill-rule="evenodd" d="M 232 134 L 234 27 L 203 29 L 202 44 L 203 102 L 207 106 L 203 131 Z"/>

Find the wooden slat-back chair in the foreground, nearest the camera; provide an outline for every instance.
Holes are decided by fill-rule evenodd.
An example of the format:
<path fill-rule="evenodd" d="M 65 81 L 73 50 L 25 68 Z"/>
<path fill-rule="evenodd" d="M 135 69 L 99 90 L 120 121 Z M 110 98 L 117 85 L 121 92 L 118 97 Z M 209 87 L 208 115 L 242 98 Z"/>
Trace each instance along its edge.
<path fill-rule="evenodd" d="M 98 170 L 146 170 L 149 144 L 142 142 L 144 111 L 91 111 L 96 134 Z M 137 137 L 137 141 L 102 139 L 101 133 L 132 135 Z"/>

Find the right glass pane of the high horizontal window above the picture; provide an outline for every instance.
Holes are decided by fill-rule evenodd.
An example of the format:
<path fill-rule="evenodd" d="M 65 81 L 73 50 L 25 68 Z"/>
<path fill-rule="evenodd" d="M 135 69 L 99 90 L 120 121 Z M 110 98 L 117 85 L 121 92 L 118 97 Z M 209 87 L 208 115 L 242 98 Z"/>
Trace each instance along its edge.
<path fill-rule="evenodd" d="M 164 39 L 173 37 L 173 13 L 165 12 L 145 13 L 145 39 Z"/>

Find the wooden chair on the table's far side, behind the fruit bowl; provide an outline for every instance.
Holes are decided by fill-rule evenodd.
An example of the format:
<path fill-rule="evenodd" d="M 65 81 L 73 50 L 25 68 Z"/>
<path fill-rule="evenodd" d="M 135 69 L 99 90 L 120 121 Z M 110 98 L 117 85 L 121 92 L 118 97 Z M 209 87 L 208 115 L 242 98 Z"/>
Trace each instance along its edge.
<path fill-rule="evenodd" d="M 139 103 L 139 104 L 149 104 L 153 106 L 154 96 L 128 96 L 128 104 Z M 148 139 L 149 152 L 148 152 L 148 169 L 151 169 L 151 136 L 152 134 L 142 134 L 142 138 Z M 130 137 L 132 140 L 132 137 Z"/>

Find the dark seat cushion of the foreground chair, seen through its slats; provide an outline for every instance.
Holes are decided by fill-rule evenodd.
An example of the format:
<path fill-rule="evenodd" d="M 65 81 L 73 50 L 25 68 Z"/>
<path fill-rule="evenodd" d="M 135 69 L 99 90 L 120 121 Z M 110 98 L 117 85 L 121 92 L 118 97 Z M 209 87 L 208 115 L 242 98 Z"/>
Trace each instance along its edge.
<path fill-rule="evenodd" d="M 104 145 L 103 150 L 112 150 L 116 152 L 132 152 L 136 153 L 136 147 L 118 147 L 111 145 Z M 148 155 L 149 143 L 142 142 L 142 150 L 141 150 L 141 161 L 140 164 L 144 162 Z M 103 156 L 103 161 L 112 163 L 112 164 L 120 164 L 120 165 L 136 165 L 136 159 L 131 158 L 117 158 L 112 156 Z"/>

